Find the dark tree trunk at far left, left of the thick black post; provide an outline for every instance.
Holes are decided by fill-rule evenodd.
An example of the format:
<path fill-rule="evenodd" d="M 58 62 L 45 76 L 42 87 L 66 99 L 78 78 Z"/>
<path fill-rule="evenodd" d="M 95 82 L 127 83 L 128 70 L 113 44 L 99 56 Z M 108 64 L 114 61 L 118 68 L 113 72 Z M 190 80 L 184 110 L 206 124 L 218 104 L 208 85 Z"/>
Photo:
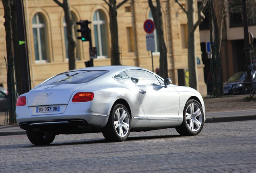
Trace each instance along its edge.
<path fill-rule="evenodd" d="M 2 0 L 4 6 L 4 27 L 5 27 L 5 40 L 6 40 L 6 52 L 7 52 L 7 86 L 8 86 L 8 100 L 7 108 L 9 112 L 9 124 L 16 123 L 15 105 L 15 80 L 14 80 L 14 56 L 12 47 L 12 24 L 11 24 L 11 8 L 9 0 Z"/>

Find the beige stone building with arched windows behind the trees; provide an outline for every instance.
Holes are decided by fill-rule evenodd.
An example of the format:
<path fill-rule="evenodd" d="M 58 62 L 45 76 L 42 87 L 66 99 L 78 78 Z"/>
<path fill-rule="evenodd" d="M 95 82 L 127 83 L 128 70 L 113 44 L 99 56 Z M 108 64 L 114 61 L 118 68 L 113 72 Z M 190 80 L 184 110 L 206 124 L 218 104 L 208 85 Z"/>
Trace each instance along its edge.
<path fill-rule="evenodd" d="M 118 1 L 120 2 L 120 1 Z M 186 8 L 186 0 L 181 0 Z M 111 40 L 109 31 L 108 6 L 103 0 L 70 0 L 70 10 L 75 22 L 89 20 L 92 44 L 97 47 L 94 66 L 110 65 Z M 197 5 L 195 3 L 195 5 Z M 163 31 L 167 46 L 169 78 L 173 84 L 184 85 L 184 70 L 188 70 L 187 17 L 174 0 L 161 1 L 163 13 Z M 27 44 L 31 73 L 31 86 L 35 87 L 43 80 L 68 70 L 66 24 L 64 11 L 53 0 L 24 0 L 27 28 Z M 197 9 L 197 8 L 195 8 Z M 4 16 L 0 3 L 0 16 Z M 118 36 L 121 64 L 140 66 L 153 70 L 151 52 L 146 48 L 145 20 L 152 19 L 147 0 L 130 0 L 118 8 Z M 195 13 L 197 18 L 197 12 Z M 6 57 L 4 18 L 0 18 L 0 83 L 6 84 Z M 75 30 L 77 26 L 74 26 Z M 155 31 L 154 31 L 155 34 Z M 80 33 L 76 32 L 76 36 Z M 155 34 L 157 45 L 157 37 Z M 206 95 L 204 83 L 204 65 L 201 60 L 199 28 L 195 31 L 198 88 Z M 156 46 L 153 54 L 153 66 L 159 67 L 159 52 Z M 89 60 L 89 42 L 77 40 L 76 68 L 84 68 Z"/>

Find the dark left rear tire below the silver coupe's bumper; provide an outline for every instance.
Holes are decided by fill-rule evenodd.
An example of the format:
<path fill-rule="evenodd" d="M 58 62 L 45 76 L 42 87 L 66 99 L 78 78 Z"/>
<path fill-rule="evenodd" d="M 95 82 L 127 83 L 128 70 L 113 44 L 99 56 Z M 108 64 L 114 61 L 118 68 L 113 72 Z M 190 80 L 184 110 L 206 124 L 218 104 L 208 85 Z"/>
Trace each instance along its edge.
<path fill-rule="evenodd" d="M 54 133 L 27 131 L 27 137 L 34 145 L 48 145 L 54 141 L 55 136 L 56 135 Z"/>

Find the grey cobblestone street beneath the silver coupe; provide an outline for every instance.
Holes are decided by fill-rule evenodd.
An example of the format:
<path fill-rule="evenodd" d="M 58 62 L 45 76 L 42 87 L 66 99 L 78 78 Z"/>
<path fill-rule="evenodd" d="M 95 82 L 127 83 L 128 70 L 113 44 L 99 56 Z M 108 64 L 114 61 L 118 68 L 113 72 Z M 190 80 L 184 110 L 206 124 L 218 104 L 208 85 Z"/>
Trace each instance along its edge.
<path fill-rule="evenodd" d="M 35 146 L 26 135 L 0 137 L 0 172 L 255 173 L 256 120 L 206 123 L 197 136 L 175 129 L 130 133 L 107 143 L 101 133 L 59 135 Z"/>

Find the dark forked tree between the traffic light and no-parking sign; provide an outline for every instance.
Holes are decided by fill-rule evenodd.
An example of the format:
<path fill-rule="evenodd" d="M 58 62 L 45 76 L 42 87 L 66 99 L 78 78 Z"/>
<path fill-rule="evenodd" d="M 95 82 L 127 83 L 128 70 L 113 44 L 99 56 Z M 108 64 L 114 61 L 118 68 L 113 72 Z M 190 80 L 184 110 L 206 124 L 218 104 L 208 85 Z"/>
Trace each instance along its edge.
<path fill-rule="evenodd" d="M 111 65 L 120 65 L 117 9 L 128 0 L 123 0 L 116 5 L 116 0 L 103 0 L 109 7 L 109 28 L 111 34 Z"/>

